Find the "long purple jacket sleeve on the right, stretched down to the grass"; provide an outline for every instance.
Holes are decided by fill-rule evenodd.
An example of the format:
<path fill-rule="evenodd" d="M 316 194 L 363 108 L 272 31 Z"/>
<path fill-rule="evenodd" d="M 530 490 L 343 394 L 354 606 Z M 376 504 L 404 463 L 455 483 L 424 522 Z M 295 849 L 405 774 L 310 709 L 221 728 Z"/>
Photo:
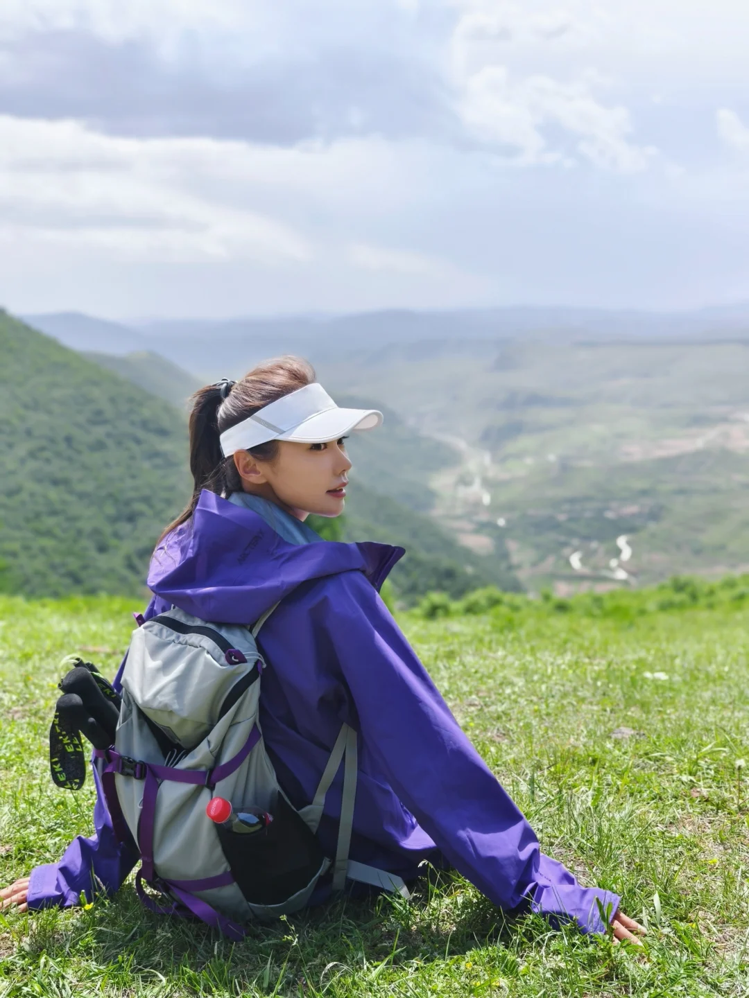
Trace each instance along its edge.
<path fill-rule="evenodd" d="M 582 887 L 544 855 L 519 809 L 473 749 L 375 590 L 356 573 L 321 594 L 316 642 L 351 690 L 362 740 L 443 855 L 505 910 L 523 903 L 602 932 L 619 897 Z"/>

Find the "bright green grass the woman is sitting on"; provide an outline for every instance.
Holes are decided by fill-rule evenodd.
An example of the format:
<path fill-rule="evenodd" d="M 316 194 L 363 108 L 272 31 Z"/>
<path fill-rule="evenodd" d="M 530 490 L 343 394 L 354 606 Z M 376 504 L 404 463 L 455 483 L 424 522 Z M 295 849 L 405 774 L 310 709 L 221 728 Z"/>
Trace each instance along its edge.
<path fill-rule="evenodd" d="M 749 767 L 736 765 L 749 762 L 749 609 L 732 598 L 741 589 L 696 601 L 685 583 L 629 603 L 619 593 L 511 596 L 485 613 L 462 604 L 402 619 L 543 847 L 647 921 L 642 951 L 555 933 L 533 916 L 504 919 L 459 876 L 432 875 L 409 904 L 339 901 L 235 945 L 144 912 L 126 884 L 87 910 L 8 914 L 0 995 L 749 994 Z M 90 828 L 91 781 L 76 795 L 48 773 L 58 662 L 80 651 L 111 675 L 132 609 L 0 598 L 5 882 Z M 632 734 L 612 738 L 622 729 Z"/>

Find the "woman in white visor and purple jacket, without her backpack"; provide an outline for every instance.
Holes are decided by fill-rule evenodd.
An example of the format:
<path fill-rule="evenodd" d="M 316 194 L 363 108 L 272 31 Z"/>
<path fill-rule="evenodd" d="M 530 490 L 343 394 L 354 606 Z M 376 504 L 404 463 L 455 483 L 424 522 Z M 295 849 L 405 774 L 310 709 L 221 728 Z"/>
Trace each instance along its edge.
<path fill-rule="evenodd" d="M 152 559 L 145 617 L 176 605 L 207 621 L 249 624 L 281 601 L 261 638 L 271 666 L 261 723 L 295 806 L 312 799 L 347 723 L 360 740 L 352 859 L 406 880 L 422 860 L 450 864 L 504 910 L 530 907 L 592 933 L 605 931 L 607 912 L 615 938 L 636 941 L 640 926 L 615 894 L 582 887 L 540 851 L 379 599 L 402 549 L 324 542 L 305 524 L 311 513 L 343 512 L 352 467 L 345 432 L 380 422 L 378 412 L 339 409 L 296 357 L 197 392 L 195 491 Z M 138 853 L 115 837 L 95 777 L 96 834 L 0 892 L 3 907 L 72 905 L 94 883 L 119 888 Z M 329 855 L 334 797 L 319 829 Z"/>

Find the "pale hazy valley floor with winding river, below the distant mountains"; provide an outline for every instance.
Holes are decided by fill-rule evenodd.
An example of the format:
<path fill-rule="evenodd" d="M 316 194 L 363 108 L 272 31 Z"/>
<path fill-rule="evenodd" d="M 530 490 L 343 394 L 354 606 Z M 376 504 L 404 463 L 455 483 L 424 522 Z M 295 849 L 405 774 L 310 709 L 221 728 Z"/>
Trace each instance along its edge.
<path fill-rule="evenodd" d="M 528 330 L 321 366 L 453 445 L 434 516 L 489 561 L 509 555 L 530 591 L 749 566 L 749 340 Z"/>

